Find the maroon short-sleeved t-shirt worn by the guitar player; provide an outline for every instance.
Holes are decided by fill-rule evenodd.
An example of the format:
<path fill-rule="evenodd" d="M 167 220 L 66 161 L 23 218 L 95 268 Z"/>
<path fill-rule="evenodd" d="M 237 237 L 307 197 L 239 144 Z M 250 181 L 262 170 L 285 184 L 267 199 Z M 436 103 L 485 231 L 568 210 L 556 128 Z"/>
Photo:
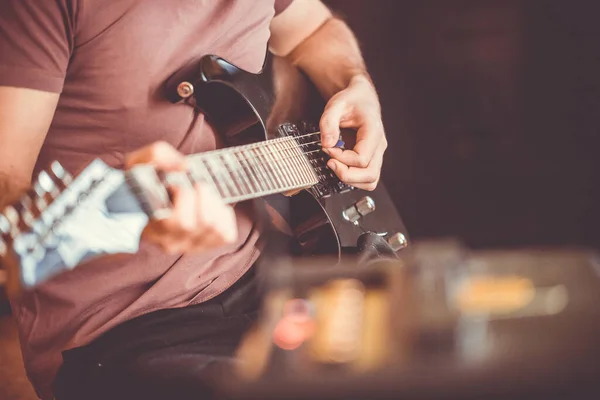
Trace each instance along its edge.
<path fill-rule="evenodd" d="M 186 154 L 214 149 L 202 115 L 169 103 L 161 85 L 205 54 L 258 72 L 270 21 L 290 2 L 0 0 L 0 85 L 61 93 L 36 170 L 59 160 L 76 174 L 98 157 L 122 167 L 127 153 L 156 140 Z M 235 210 L 233 245 L 170 256 L 142 243 L 136 255 L 92 262 L 15 303 L 38 394 L 50 396 L 62 350 L 141 314 L 205 301 L 235 282 L 258 257 L 252 210 L 244 203 Z"/>

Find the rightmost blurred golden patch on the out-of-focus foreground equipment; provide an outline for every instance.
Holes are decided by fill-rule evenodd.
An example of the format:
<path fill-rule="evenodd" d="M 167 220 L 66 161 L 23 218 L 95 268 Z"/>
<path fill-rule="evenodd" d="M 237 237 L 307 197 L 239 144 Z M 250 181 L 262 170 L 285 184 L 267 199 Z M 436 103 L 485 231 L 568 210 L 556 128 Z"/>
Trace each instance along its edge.
<path fill-rule="evenodd" d="M 536 289 L 520 276 L 469 277 L 461 283 L 454 304 L 462 314 L 511 314 L 531 303 Z"/>

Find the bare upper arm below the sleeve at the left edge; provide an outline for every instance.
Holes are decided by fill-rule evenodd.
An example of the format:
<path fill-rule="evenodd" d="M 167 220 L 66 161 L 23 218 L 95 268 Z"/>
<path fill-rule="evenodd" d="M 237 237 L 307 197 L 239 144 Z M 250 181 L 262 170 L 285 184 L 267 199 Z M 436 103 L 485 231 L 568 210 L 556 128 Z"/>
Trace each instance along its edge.
<path fill-rule="evenodd" d="M 57 93 L 0 86 L 0 209 L 30 185 L 58 98 Z"/>

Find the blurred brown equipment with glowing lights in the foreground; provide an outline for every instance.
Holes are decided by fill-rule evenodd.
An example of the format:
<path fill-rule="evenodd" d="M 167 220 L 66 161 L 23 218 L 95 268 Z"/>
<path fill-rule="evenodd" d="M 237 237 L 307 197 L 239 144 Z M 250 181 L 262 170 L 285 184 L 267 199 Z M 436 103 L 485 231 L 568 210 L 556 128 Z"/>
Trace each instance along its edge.
<path fill-rule="evenodd" d="M 600 398 L 600 258 L 415 243 L 274 266 L 231 399 Z"/>

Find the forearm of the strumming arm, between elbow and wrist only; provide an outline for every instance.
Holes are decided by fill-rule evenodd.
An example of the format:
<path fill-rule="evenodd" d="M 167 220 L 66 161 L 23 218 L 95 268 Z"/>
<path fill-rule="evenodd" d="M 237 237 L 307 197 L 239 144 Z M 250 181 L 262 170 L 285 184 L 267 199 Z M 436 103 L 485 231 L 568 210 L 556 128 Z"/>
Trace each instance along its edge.
<path fill-rule="evenodd" d="M 287 58 L 310 77 L 325 98 L 347 88 L 353 80 L 371 81 L 354 34 L 335 17 L 303 40 Z"/>

